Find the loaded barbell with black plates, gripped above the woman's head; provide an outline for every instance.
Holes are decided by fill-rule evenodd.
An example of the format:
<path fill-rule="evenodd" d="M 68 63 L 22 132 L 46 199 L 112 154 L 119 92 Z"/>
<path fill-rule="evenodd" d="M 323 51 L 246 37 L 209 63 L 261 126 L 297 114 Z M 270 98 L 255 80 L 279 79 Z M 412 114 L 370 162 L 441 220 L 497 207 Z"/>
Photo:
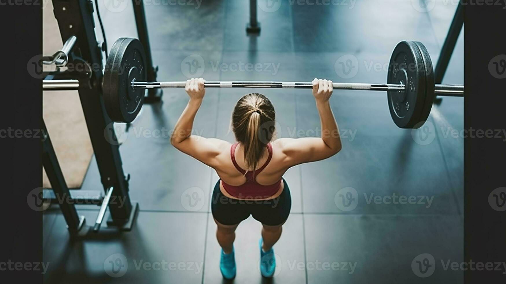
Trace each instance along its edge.
<path fill-rule="evenodd" d="M 144 103 L 146 89 L 184 88 L 186 82 L 146 82 L 145 54 L 139 40 L 119 38 L 109 53 L 102 93 L 109 117 L 132 122 Z M 311 89 L 311 82 L 214 81 L 206 88 Z M 333 83 L 336 90 L 386 91 L 390 114 L 400 128 L 417 128 L 427 120 L 435 95 L 463 96 L 463 85 L 434 84 L 431 57 L 426 47 L 415 41 L 402 41 L 390 58 L 387 84 Z M 78 80 L 44 80 L 43 90 L 77 90 Z"/>

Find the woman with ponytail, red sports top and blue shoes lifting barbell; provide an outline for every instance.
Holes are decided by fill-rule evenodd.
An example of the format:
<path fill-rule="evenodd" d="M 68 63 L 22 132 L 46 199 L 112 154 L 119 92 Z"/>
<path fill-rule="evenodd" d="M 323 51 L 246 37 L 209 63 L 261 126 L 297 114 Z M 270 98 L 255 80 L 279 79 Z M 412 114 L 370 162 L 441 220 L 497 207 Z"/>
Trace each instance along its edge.
<path fill-rule="evenodd" d="M 176 123 L 171 143 L 214 168 L 220 177 L 211 208 L 218 225 L 216 237 L 222 247 L 220 270 L 223 277 L 235 277 L 235 229 L 249 215 L 262 223 L 260 270 L 263 276 L 272 277 L 276 267 L 273 245 L 281 236 L 282 225 L 291 208 L 290 190 L 283 174 L 292 166 L 335 155 L 341 150 L 341 138 L 322 134 L 321 138 L 272 141 L 274 107 L 259 93 L 246 94 L 235 105 L 232 130 L 237 143 L 193 135 L 193 121 L 205 94 L 204 82 L 202 78 L 186 81 L 185 90 L 190 100 Z M 333 91 L 332 81 L 314 79 L 312 84 L 322 133 L 339 133 L 328 101 Z"/>

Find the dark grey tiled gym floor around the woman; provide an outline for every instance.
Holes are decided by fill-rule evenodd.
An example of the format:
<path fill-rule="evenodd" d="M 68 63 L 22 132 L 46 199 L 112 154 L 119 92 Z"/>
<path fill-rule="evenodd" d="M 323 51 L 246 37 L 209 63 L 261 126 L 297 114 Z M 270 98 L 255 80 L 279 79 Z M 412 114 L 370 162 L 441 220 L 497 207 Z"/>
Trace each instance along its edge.
<path fill-rule="evenodd" d="M 260 3 L 263 1 L 259 4 L 269 11 Z M 167 0 L 145 3 L 153 60 L 162 80 L 186 80 L 184 60 L 193 56 L 203 59 L 197 73 L 202 72 L 207 80 L 311 81 L 318 77 L 383 83 L 387 77 L 383 66 L 401 40 L 423 42 L 434 65 L 437 61 L 455 6 L 438 0 L 435 7 L 428 6 L 430 11 L 419 12 L 417 1 L 358 0 L 308 6 L 268 0 L 274 5 L 272 10 L 279 8 L 258 10 L 262 32 L 251 37 L 245 34 L 246 0 L 203 0 L 198 9 L 196 1 L 184 1 L 188 5 L 169 5 L 175 2 Z M 136 36 L 132 4 L 126 3 L 122 12 L 104 7 L 109 2 L 101 3 L 109 48 L 117 37 Z M 101 37 L 100 29 L 97 33 Z M 460 35 L 443 83 L 463 83 L 462 41 Z M 348 54 L 356 56 L 359 64 L 354 69 L 356 76 L 343 79 L 336 74 L 334 63 Z M 261 72 L 216 67 L 240 62 L 271 67 Z M 231 108 L 243 93 L 207 90 L 196 131 L 232 141 L 228 131 Z M 264 93 L 277 110 L 280 136 L 314 135 L 319 118 L 310 91 Z M 172 129 L 186 102 L 183 90 L 166 90 L 163 104 L 145 105 L 129 131 L 121 133 L 125 139 L 120 147 L 123 169 L 132 176 L 131 198 L 141 208 L 131 232 L 103 228 L 97 236 L 71 242 L 59 210 L 46 211 L 47 283 L 224 282 L 218 269 L 216 225 L 209 212 L 216 173 L 179 153 L 168 138 L 143 134 L 145 130 Z M 463 258 L 463 140 L 448 135 L 451 129 L 463 127 L 462 99 L 444 98 L 434 106 L 428 122 L 433 131 L 426 140 L 420 139 L 419 131 L 394 125 L 385 93 L 336 91 L 331 104 L 344 148 L 330 159 L 286 173 L 293 205 L 275 245 L 279 274 L 274 279 L 261 277 L 257 268 L 261 226 L 249 218 L 237 230 L 234 282 L 461 282 L 462 273 L 444 269 L 442 263 Z M 200 201 L 186 199 L 185 191 L 194 187 L 201 189 Z M 349 187 L 355 190 L 351 192 L 356 192 L 358 203 L 345 211 L 350 207 L 343 206 L 340 195 Z M 95 159 L 82 188 L 102 188 Z M 388 204 L 388 197 L 394 195 L 424 199 L 416 197 L 422 204 Z M 98 207 L 90 206 L 80 206 L 79 213 L 93 223 Z M 123 276 L 111 277 L 104 270 L 114 254 L 126 259 L 123 263 L 128 267 L 123 266 L 125 270 L 119 273 L 125 272 Z M 426 278 L 414 273 L 420 254 L 435 259 L 435 271 Z M 170 263 L 166 266 L 170 269 L 155 270 L 162 262 Z"/>

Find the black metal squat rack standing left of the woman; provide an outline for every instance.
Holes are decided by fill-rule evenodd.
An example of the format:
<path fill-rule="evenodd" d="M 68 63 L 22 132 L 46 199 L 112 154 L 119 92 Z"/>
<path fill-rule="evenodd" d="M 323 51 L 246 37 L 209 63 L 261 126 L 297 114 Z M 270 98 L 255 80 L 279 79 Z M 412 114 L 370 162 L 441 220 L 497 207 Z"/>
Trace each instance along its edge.
<path fill-rule="evenodd" d="M 103 66 L 102 51 L 104 50 L 103 45 L 97 42 L 94 29 L 93 2 L 91 0 L 52 0 L 52 2 L 61 38 L 65 43 L 62 48 L 63 52 L 55 53 L 55 55 L 58 54 L 58 58 L 55 56 L 53 63 L 56 62 L 57 66 L 63 66 L 67 63 L 84 64 L 85 66 Z M 144 4 L 142 1 L 133 0 L 132 2 L 137 32 L 146 52 L 147 66 L 153 66 Z M 62 57 L 63 59 L 61 59 Z M 147 78 L 156 80 L 157 70 L 158 67 L 156 66 L 148 68 Z M 77 213 L 74 204 L 74 201 L 77 200 L 86 204 L 101 205 L 94 225 L 94 231 L 99 230 L 107 207 L 109 207 L 110 211 L 107 221 L 108 226 L 129 231 L 132 229 L 135 217 L 139 211 L 139 203 L 132 202 L 130 199 L 130 175 L 125 175 L 123 172 L 119 144 L 110 143 L 110 141 L 117 141 L 117 137 L 114 132 L 113 121 L 107 115 L 104 106 L 101 91 L 103 73 L 93 72 L 91 67 L 87 70 L 76 69 L 72 71 L 72 74 L 69 73 L 50 73 L 44 80 L 60 80 L 68 79 L 69 77 L 79 78 L 79 88 L 77 90 L 98 164 L 104 194 L 98 194 L 92 198 L 82 198 L 78 193 L 80 190 L 71 193 L 61 171 L 46 124 L 43 121 L 43 133 L 46 133 L 42 139 L 43 165 L 53 190 L 52 192 L 45 191 L 43 199 L 51 199 L 59 203 L 71 236 L 86 235 L 90 229 L 86 225 L 85 217 L 79 216 Z M 160 101 L 161 90 L 153 89 L 148 90 L 146 93 L 147 102 Z M 58 198 L 55 198 L 55 196 Z M 112 202 L 111 200 L 121 200 L 121 202 Z"/>

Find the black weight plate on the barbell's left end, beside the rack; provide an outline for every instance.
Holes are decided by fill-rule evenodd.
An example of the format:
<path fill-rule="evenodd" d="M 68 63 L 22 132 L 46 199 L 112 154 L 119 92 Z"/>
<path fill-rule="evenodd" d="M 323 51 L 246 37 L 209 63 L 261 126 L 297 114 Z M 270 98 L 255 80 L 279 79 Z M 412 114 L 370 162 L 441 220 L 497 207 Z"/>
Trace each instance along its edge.
<path fill-rule="evenodd" d="M 102 90 L 107 114 L 113 121 L 132 122 L 141 111 L 145 89 L 132 80 L 146 81 L 146 55 L 139 40 L 119 38 L 107 58 Z"/>

